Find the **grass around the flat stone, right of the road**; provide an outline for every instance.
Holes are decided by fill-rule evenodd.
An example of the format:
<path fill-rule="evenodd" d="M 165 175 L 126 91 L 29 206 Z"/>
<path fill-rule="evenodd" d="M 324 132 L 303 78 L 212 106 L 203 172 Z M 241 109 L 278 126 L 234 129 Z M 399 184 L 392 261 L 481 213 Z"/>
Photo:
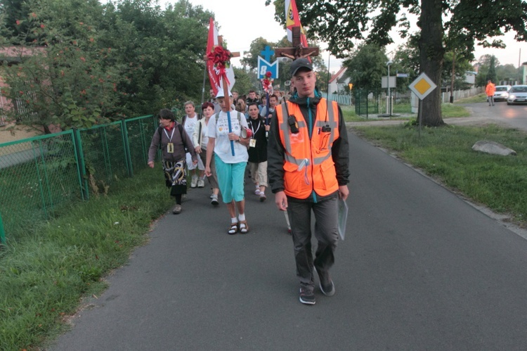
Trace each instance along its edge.
<path fill-rule="evenodd" d="M 490 125 L 424 128 L 419 138 L 415 127 L 354 127 L 364 139 L 396 153 L 398 157 L 438 179 L 463 196 L 509 215 L 527 228 L 526 133 Z M 476 141 L 501 143 L 516 156 L 473 151 Z"/>

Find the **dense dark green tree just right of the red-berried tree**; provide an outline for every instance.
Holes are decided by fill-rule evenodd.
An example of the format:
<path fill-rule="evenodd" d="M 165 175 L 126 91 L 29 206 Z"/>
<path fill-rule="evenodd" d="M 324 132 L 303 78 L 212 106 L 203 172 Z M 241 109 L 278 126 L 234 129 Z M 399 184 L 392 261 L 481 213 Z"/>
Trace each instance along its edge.
<path fill-rule="evenodd" d="M 122 0 L 106 8 L 108 45 L 117 48 L 129 79 L 120 105 L 126 115 L 200 101 L 209 18 L 179 0 L 165 11 L 150 0 Z M 155 2 L 157 4 L 157 2 Z"/>

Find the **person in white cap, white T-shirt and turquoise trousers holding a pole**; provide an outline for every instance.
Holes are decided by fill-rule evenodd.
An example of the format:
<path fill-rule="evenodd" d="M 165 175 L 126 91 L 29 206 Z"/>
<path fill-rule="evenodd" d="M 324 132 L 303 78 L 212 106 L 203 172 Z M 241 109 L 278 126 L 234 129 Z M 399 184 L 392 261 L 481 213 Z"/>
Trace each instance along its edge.
<path fill-rule="evenodd" d="M 230 96 L 230 91 L 229 91 Z M 243 180 L 245 167 L 249 155 L 247 146 L 250 137 L 247 137 L 247 120 L 245 115 L 238 111 L 230 111 L 230 129 L 228 125 L 227 111 L 230 110 L 230 103 L 226 104 L 223 97 L 223 89 L 216 94 L 216 101 L 221 106 L 221 112 L 210 117 L 208 125 L 209 142 L 207 143 L 207 162 L 205 164 L 205 174 L 209 177 L 212 172 L 210 169 L 212 158 L 216 165 L 219 189 L 223 203 L 226 203 L 230 215 L 230 226 L 228 234 L 247 234 L 249 225 L 245 218 L 245 193 Z M 231 150 L 231 141 L 234 145 L 234 155 Z M 238 217 L 236 210 L 238 209 Z"/>

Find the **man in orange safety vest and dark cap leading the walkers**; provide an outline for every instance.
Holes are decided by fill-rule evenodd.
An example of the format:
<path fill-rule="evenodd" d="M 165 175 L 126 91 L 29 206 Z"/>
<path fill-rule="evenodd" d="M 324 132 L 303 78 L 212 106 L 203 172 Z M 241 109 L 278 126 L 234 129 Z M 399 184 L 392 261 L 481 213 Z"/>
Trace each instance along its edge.
<path fill-rule="evenodd" d="M 286 211 L 292 229 L 300 302 L 315 303 L 314 275 L 320 291 L 334 295 L 329 269 L 338 240 L 338 198 L 349 195 L 349 143 L 338 104 L 315 87 L 306 58 L 291 65 L 294 94 L 276 106 L 268 141 L 268 181 L 278 210 Z M 311 212 L 318 246 L 311 251 Z"/>

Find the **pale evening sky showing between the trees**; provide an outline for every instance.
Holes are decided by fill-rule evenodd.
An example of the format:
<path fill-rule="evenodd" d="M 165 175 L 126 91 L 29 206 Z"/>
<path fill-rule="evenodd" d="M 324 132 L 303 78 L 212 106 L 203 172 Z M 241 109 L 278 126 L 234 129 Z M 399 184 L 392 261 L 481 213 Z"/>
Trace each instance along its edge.
<path fill-rule="evenodd" d="M 160 0 L 160 4 L 168 2 L 167 0 Z M 285 29 L 274 19 L 275 7 L 272 4 L 265 6 L 265 2 L 265 0 L 190 0 L 194 6 L 202 6 L 205 10 L 215 14 L 216 23 L 219 25 L 219 34 L 228 44 L 228 49 L 233 52 L 238 51 L 240 54 L 243 51 L 249 51 L 251 42 L 258 37 L 263 37 L 269 42 L 278 42 L 286 34 Z M 398 45 L 403 44 L 403 41 L 397 41 L 395 37 L 393 40 L 396 41 L 396 44 L 388 46 L 386 48 L 387 53 L 396 50 Z M 476 46 L 474 52 L 476 60 L 489 54 L 496 56 L 500 65 L 512 64 L 516 68 L 519 59 L 520 65 L 527 61 L 527 42 L 515 42 L 513 33 L 507 34 L 503 40 L 507 44 L 506 49 L 486 49 Z M 324 43 L 321 44 L 321 49 L 325 48 L 327 46 Z M 342 60 L 337 60 L 334 56 L 329 57 L 327 51 L 322 51 L 321 55 L 330 72 L 339 70 Z M 391 55 L 393 54 L 389 54 L 389 56 Z M 231 63 L 240 66 L 240 58 L 233 58 Z"/>

